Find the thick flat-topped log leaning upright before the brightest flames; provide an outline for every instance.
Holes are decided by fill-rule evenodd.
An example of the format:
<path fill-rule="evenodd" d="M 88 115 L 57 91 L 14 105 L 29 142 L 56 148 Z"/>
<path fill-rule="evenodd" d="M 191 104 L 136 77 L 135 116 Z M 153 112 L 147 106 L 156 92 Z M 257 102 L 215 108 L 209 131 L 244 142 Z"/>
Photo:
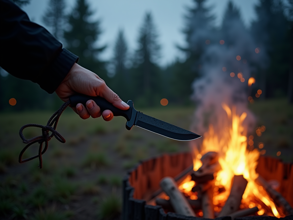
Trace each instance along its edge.
<path fill-rule="evenodd" d="M 218 217 L 227 216 L 239 209 L 246 185 L 247 180 L 243 175 L 234 176 L 230 195 Z"/>

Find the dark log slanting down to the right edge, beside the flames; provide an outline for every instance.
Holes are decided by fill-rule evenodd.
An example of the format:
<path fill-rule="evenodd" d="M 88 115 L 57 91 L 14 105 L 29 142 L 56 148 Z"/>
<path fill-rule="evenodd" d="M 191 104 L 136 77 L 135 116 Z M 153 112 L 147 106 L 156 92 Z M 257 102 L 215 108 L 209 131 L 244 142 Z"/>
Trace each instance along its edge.
<path fill-rule="evenodd" d="M 255 180 L 255 182 L 262 186 L 265 191 L 270 195 L 270 197 L 274 200 L 275 204 L 282 208 L 286 215 L 293 215 L 293 209 L 290 206 L 290 204 L 286 201 L 284 197 L 274 189 L 270 187 L 267 181 L 261 176 L 258 176 L 258 178 Z"/>

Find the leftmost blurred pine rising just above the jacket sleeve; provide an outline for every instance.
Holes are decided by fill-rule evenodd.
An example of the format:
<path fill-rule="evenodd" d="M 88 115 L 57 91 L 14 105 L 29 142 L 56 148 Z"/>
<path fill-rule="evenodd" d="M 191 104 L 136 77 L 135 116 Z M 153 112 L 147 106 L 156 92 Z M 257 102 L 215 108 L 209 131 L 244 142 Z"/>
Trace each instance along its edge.
<path fill-rule="evenodd" d="M 50 0 L 48 9 L 42 17 L 43 22 L 47 25 L 58 40 L 63 38 L 63 30 L 66 21 L 65 1 Z"/>

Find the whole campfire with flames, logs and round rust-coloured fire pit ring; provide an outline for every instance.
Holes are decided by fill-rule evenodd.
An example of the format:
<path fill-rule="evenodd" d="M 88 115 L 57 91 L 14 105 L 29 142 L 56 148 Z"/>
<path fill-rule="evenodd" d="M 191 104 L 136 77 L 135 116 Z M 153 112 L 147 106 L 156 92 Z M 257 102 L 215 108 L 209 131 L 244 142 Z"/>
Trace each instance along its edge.
<path fill-rule="evenodd" d="M 129 173 L 124 180 L 124 219 L 179 214 L 176 219 L 230 216 L 233 220 L 248 215 L 280 218 L 293 214 L 289 203 L 275 191 L 282 183 L 268 183 L 256 172 L 261 158 L 258 149 L 253 149 L 253 137 L 247 138 L 246 112 L 237 114 L 236 107 L 224 103 L 222 108 L 227 126 L 221 136 L 210 125 L 201 147 L 193 147 L 191 154 L 153 158 Z M 292 164 L 284 167 L 293 171 Z M 286 178 L 291 192 L 293 172 Z"/>

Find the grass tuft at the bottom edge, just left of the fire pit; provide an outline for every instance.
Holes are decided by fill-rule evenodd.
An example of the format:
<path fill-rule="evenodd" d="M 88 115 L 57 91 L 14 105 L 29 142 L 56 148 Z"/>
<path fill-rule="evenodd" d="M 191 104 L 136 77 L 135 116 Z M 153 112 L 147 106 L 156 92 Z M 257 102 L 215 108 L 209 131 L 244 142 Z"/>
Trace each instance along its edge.
<path fill-rule="evenodd" d="M 110 195 L 100 204 L 100 219 L 113 219 L 121 212 L 121 201 L 115 195 Z"/>

